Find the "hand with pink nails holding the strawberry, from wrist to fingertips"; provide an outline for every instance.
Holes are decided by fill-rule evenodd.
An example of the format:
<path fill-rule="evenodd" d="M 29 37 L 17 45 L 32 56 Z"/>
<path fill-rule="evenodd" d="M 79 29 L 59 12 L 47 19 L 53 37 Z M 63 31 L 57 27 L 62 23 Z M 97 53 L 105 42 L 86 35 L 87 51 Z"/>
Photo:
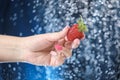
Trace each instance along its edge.
<path fill-rule="evenodd" d="M 80 42 L 79 39 L 67 41 L 68 29 L 69 27 L 65 27 L 60 32 L 24 37 L 21 43 L 22 59 L 35 65 L 61 65 L 72 55 L 72 48 L 78 47 Z M 62 50 L 56 50 L 56 44 L 59 44 Z"/>

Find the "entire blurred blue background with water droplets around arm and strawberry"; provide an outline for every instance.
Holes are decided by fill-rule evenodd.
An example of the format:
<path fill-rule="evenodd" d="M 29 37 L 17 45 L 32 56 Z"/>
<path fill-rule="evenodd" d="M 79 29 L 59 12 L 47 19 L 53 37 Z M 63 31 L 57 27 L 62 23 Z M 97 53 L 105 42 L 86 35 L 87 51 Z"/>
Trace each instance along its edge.
<path fill-rule="evenodd" d="M 120 80 L 120 0 L 1 0 L 0 34 L 56 32 L 80 15 L 89 31 L 63 65 L 1 63 L 0 80 Z"/>

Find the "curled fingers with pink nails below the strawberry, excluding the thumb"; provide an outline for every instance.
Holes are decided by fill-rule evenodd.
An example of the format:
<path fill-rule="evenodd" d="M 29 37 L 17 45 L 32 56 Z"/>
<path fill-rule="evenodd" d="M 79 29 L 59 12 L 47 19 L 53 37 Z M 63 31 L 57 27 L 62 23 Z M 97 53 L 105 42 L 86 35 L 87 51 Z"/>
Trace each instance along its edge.
<path fill-rule="evenodd" d="M 59 44 L 55 46 L 55 50 L 52 53 L 51 57 L 51 66 L 59 66 L 64 63 L 66 58 L 69 58 L 72 56 L 72 50 L 71 48 L 77 48 L 80 44 L 79 39 L 75 39 L 73 42 L 65 41 L 65 39 L 60 39 L 58 41 Z M 64 46 L 64 47 L 63 47 Z"/>

